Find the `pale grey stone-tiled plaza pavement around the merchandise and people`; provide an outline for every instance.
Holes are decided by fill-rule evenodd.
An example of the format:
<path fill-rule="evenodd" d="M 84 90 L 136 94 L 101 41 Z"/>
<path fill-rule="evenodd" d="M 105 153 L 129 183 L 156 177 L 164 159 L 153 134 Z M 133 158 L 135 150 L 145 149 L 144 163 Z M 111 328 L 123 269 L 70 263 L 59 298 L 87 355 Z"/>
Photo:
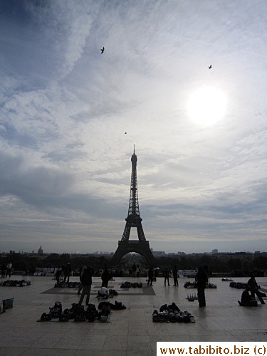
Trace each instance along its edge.
<path fill-rule="evenodd" d="M 12 276 L 21 280 L 25 277 Z M 145 278 L 115 278 L 109 288 L 119 295 L 110 299 L 121 301 L 126 310 L 112 310 L 110 323 L 37 323 L 56 301 L 63 309 L 78 303 L 77 289 L 53 288 L 51 277 L 26 277 L 31 286 L 0 287 L 0 300 L 14 298 L 14 308 L 0 315 L 0 355 L 156 355 L 157 341 L 267 341 L 267 304 L 256 308 L 238 305 L 242 290 L 230 288 L 221 278 L 210 278 L 216 289 L 206 289 L 206 308 L 189 302 L 187 294 L 195 289 L 184 288 L 187 278 L 179 278 L 179 287 L 164 287 L 157 278 L 152 287 Z M 248 278 L 234 278 L 246 282 Z M 3 280 L 0 280 L 3 281 Z M 78 281 L 78 277 L 70 278 Z M 125 281 L 138 281 L 143 288 L 122 290 Z M 192 281 L 192 280 L 191 280 Z M 256 278 L 267 291 L 267 278 Z M 98 307 L 100 278 L 93 278 L 90 303 Z M 188 310 L 196 323 L 153 323 L 153 310 L 175 302 Z"/>

